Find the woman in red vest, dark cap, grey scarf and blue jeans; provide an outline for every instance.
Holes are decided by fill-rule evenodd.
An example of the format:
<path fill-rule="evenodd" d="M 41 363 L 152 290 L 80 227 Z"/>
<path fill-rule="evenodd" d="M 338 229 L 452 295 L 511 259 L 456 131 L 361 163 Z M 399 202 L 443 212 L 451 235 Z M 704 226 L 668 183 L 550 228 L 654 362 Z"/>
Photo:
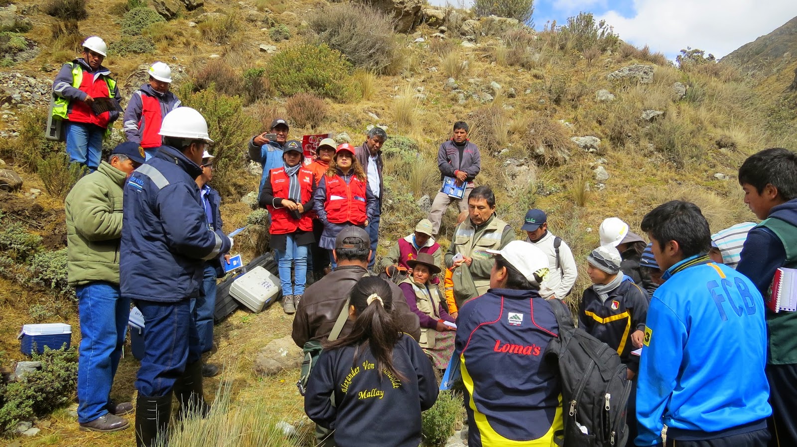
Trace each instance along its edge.
<path fill-rule="evenodd" d="M 271 169 L 260 195 L 260 206 L 271 215 L 271 247 L 277 254 L 282 287 L 282 309 L 296 312 L 307 280 L 308 245 L 312 235 L 312 192 L 316 188 L 312 171 L 301 165 L 300 142 L 285 143 L 285 165 Z M 294 270 L 291 279 L 291 269 Z"/>

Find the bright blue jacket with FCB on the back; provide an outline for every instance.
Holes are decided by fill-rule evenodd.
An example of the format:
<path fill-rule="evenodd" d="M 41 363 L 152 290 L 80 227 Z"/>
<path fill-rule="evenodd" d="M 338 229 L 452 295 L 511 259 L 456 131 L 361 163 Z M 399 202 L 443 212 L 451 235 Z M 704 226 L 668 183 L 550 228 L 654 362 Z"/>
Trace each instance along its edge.
<path fill-rule="evenodd" d="M 764 298 L 708 256 L 670 267 L 648 309 L 637 387 L 636 445 L 766 428 Z"/>

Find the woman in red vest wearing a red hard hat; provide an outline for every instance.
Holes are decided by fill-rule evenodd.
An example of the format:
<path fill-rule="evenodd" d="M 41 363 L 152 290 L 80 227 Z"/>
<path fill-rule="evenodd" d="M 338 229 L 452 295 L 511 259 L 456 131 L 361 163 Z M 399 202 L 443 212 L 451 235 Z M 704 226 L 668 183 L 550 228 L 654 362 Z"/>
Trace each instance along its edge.
<path fill-rule="evenodd" d="M 312 208 L 324 223 L 318 245 L 332 250 L 340 230 L 350 225 L 367 226 L 376 210 L 376 202 L 376 196 L 367 187 L 363 166 L 354 156 L 354 147 L 348 143 L 341 144 L 313 196 Z M 335 258 L 332 257 L 332 267 L 335 266 Z"/>

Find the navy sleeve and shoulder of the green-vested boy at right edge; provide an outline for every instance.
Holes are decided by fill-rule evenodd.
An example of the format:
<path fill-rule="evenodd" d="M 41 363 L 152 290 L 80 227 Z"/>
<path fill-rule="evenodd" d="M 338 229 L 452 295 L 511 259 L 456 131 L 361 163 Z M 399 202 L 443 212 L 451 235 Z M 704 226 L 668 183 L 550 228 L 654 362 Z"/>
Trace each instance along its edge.
<path fill-rule="evenodd" d="M 797 227 L 797 199 L 773 207 L 768 217 L 775 217 Z M 769 228 L 754 227 L 744 241 L 741 260 L 736 271 L 750 278 L 756 288 L 767 296 L 775 270 L 786 262 L 783 242 Z"/>

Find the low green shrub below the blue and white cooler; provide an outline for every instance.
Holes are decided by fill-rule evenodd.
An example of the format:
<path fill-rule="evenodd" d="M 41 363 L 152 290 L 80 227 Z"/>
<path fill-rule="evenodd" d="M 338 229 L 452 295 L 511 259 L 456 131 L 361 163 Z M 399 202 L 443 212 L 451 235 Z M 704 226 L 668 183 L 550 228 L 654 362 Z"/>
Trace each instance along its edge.
<path fill-rule="evenodd" d="M 10 433 L 18 422 L 49 414 L 72 401 L 77 384 L 77 348 L 33 354 L 41 371 L 27 374 L 20 382 L 0 390 L 0 431 Z"/>

